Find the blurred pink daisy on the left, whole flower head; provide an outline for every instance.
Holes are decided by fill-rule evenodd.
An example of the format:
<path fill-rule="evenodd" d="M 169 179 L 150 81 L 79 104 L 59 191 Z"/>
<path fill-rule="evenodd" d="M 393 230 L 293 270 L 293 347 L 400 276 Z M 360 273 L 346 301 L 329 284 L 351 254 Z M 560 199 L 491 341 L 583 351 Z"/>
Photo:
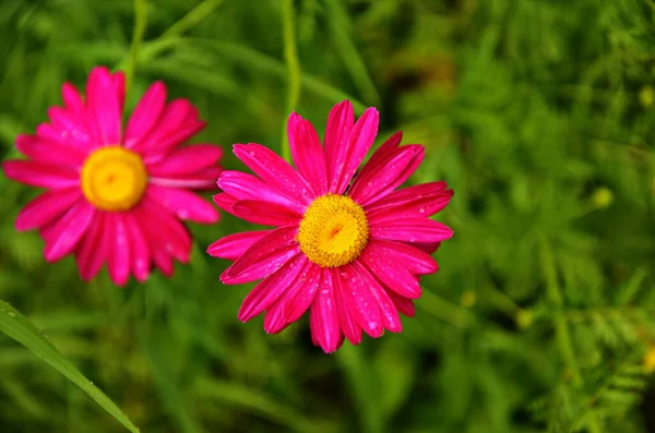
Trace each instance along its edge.
<path fill-rule="evenodd" d="M 123 129 L 124 75 L 95 68 L 86 97 L 62 86 L 64 107 L 48 110 L 49 123 L 19 135 L 27 160 L 2 164 L 7 177 L 47 191 L 16 218 L 20 231 L 38 229 L 45 257 L 74 254 L 80 275 L 93 278 L 107 263 L 114 282 L 130 274 L 147 279 L 152 263 L 172 274 L 172 258 L 187 263 L 191 237 L 180 219 L 215 222 L 211 203 L 189 190 L 212 188 L 221 148 L 180 146 L 204 128 L 186 99 L 166 104 L 154 83 Z"/>

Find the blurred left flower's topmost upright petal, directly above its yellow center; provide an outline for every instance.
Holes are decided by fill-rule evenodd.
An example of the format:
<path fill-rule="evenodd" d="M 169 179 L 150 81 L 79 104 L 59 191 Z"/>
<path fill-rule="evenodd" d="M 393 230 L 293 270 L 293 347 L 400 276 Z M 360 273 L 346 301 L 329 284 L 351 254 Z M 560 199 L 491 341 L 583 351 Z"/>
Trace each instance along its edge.
<path fill-rule="evenodd" d="M 122 72 L 117 72 L 122 74 Z M 120 89 L 107 68 L 94 68 L 86 82 L 87 105 L 98 129 L 98 144 L 121 143 L 122 104 Z"/>

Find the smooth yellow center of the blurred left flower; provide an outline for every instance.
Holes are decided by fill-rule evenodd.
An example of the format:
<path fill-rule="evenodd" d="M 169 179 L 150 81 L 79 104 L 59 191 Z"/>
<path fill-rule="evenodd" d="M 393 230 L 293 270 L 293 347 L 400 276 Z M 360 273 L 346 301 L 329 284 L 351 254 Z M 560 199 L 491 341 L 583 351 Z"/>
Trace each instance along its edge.
<path fill-rule="evenodd" d="M 128 211 L 141 201 L 147 172 L 141 156 L 121 146 L 94 151 L 82 166 L 82 192 L 103 211 Z"/>

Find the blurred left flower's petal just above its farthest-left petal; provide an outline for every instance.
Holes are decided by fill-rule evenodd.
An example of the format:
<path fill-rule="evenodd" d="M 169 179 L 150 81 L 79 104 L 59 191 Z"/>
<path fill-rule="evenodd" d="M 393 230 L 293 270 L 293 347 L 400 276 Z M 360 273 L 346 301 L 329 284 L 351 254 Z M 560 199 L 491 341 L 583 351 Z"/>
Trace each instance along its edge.
<path fill-rule="evenodd" d="M 21 134 L 16 137 L 16 148 L 28 158 L 44 164 L 80 167 L 86 158 L 83 151 L 63 146 L 58 142 L 36 135 Z"/>

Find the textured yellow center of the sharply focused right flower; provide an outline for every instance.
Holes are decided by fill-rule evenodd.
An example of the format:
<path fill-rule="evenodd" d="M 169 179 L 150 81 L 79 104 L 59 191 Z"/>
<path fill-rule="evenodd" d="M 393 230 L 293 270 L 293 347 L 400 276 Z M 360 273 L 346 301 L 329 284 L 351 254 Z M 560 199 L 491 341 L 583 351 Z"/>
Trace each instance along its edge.
<path fill-rule="evenodd" d="M 311 262 L 336 267 L 357 258 L 368 236 L 368 220 L 361 206 L 345 195 L 327 194 L 307 207 L 298 229 L 298 243 Z"/>

